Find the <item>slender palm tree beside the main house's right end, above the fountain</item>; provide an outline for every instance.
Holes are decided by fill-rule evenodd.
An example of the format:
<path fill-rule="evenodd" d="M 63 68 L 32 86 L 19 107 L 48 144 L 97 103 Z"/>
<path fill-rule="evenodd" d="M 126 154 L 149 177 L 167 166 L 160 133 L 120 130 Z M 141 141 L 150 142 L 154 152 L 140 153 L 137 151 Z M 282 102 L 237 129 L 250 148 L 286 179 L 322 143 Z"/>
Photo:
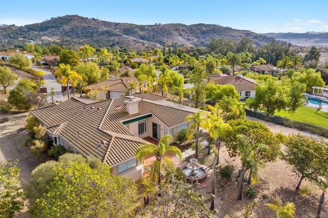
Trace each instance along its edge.
<path fill-rule="evenodd" d="M 191 114 L 188 117 L 186 117 L 186 122 L 193 121 L 193 123 L 189 126 L 188 132 L 193 133 L 193 131 L 196 132 L 196 147 L 195 147 L 195 158 L 198 159 L 198 138 L 199 138 L 199 132 L 200 127 L 204 125 L 204 112 L 198 111 L 195 114 Z"/>

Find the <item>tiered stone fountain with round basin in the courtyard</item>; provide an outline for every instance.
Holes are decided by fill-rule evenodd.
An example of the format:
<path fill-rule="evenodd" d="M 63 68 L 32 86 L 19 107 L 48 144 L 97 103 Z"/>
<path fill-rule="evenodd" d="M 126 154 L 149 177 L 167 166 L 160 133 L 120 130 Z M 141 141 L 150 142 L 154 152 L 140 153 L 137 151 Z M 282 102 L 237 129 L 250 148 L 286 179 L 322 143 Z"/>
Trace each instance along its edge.
<path fill-rule="evenodd" d="M 185 173 L 188 182 L 202 181 L 206 179 L 207 172 L 197 163 L 196 158 L 191 158 L 190 163 L 182 168 L 183 173 Z"/>

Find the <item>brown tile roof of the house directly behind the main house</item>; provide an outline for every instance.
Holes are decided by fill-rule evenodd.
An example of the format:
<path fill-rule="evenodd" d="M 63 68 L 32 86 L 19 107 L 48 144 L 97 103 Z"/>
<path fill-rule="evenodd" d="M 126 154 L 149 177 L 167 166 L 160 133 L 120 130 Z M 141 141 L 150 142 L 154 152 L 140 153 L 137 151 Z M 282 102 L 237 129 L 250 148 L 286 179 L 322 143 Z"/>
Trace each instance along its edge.
<path fill-rule="evenodd" d="M 130 82 L 137 82 L 138 80 L 133 77 L 122 77 L 115 80 L 105 80 L 103 82 L 94 83 L 86 86 L 86 89 L 101 90 L 106 88 L 109 91 L 125 92 L 128 88 L 131 88 Z M 146 84 L 146 83 L 145 83 Z"/>

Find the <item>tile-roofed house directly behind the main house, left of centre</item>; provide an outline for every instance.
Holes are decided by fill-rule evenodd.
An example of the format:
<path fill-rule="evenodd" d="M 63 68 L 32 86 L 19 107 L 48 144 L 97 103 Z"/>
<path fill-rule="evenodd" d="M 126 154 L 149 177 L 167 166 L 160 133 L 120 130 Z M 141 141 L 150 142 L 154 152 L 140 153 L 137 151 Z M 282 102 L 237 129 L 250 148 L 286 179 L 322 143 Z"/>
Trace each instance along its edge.
<path fill-rule="evenodd" d="M 147 89 L 147 82 L 142 84 L 144 86 L 142 89 L 140 88 L 140 85 L 137 85 L 136 88 L 133 89 L 130 83 L 136 83 L 137 81 L 138 80 L 133 77 L 122 77 L 119 79 L 94 83 L 85 88 L 88 90 L 100 90 L 100 98 L 110 99 L 126 94 L 132 95 L 133 93 L 140 92 L 142 89 Z"/>

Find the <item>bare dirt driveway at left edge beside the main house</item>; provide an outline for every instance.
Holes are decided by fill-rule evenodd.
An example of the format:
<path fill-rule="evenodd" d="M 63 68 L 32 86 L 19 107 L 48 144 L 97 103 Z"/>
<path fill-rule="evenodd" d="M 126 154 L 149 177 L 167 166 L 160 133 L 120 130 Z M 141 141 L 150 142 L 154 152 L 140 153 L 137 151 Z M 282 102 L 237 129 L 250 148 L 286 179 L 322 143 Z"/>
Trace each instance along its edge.
<path fill-rule="evenodd" d="M 30 180 L 31 172 L 37 165 L 47 161 L 47 155 L 35 159 L 30 149 L 22 146 L 28 136 L 26 130 L 22 130 L 27 115 L 28 113 L 0 115 L 8 118 L 7 122 L 0 123 L 0 161 L 18 160 L 23 184 Z"/>

